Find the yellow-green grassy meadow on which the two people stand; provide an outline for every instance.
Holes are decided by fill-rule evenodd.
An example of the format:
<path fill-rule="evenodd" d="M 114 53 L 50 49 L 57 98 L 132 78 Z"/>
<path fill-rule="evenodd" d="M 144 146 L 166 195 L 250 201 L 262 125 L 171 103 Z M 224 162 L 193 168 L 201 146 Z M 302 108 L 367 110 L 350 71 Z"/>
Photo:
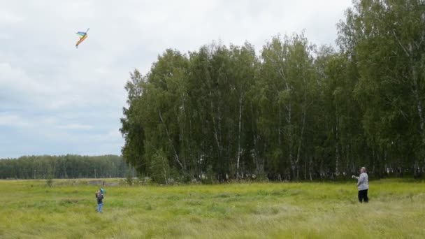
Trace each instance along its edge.
<path fill-rule="evenodd" d="M 0 180 L 0 238 L 425 238 L 425 183 L 108 187 Z"/>

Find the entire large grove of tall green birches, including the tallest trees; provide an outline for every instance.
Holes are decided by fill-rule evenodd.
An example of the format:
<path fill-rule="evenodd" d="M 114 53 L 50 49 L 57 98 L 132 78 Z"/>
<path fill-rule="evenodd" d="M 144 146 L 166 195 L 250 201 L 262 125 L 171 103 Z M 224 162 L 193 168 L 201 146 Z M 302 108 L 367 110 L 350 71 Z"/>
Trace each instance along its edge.
<path fill-rule="evenodd" d="M 166 50 L 125 85 L 124 160 L 161 183 L 423 177 L 423 1 L 353 1 L 337 31 Z"/>

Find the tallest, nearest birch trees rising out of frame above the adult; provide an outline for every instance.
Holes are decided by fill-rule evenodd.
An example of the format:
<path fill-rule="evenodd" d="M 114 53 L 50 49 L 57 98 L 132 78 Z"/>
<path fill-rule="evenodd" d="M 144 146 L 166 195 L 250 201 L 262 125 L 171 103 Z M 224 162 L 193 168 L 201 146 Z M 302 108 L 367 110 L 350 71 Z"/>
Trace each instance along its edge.
<path fill-rule="evenodd" d="M 414 175 L 425 163 L 424 14 L 423 1 L 355 1 L 338 27 L 341 49 L 356 64 L 370 163 Z"/>

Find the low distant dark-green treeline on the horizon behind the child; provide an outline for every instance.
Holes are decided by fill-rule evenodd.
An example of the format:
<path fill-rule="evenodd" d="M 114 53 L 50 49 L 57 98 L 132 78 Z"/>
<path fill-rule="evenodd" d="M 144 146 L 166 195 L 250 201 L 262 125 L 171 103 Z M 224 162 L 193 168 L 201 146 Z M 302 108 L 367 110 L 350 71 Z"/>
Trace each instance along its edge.
<path fill-rule="evenodd" d="M 0 179 L 124 178 L 134 175 L 122 157 L 25 156 L 0 160 Z"/>

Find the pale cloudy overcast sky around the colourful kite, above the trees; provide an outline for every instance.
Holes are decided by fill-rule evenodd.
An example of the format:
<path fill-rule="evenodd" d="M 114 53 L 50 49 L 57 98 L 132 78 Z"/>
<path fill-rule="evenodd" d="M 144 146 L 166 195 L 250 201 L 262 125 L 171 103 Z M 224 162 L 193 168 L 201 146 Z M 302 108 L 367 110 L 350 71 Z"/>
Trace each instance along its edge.
<path fill-rule="evenodd" d="M 334 45 L 351 0 L 0 0 L 0 158 L 120 154 L 129 72 L 166 48 L 257 50 L 277 34 Z M 79 49 L 77 31 L 89 30 Z"/>

